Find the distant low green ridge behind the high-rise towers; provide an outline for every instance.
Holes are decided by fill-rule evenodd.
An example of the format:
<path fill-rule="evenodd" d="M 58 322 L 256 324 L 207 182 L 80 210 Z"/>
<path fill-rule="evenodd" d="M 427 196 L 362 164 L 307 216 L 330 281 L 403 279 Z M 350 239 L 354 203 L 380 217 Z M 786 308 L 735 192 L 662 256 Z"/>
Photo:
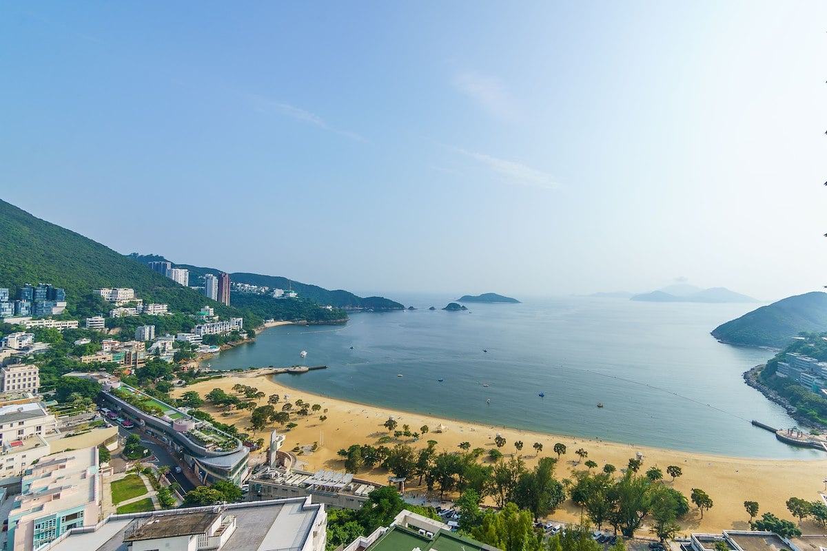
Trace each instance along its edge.
<path fill-rule="evenodd" d="M 168 261 L 157 254 L 136 254 L 129 255 L 131 259 L 135 259 L 141 263 L 150 263 L 154 261 Z M 218 268 L 204 268 L 203 266 L 193 266 L 191 264 L 175 264 L 175 268 L 185 268 L 189 270 L 189 284 L 197 284 L 197 279 L 203 278 L 205 273 L 218 274 L 222 270 Z M 270 287 L 271 289 L 289 289 L 292 288 L 299 293 L 299 297 L 307 299 L 311 302 L 316 302 L 322 306 L 333 306 L 335 308 L 342 308 L 344 310 L 373 310 L 373 311 L 388 311 L 388 310 L 403 310 L 404 306 L 399 302 L 394 302 L 385 297 L 357 297 L 352 292 L 336 290 L 328 291 L 323 287 L 317 285 L 309 285 L 308 283 L 300 283 L 288 278 L 280 276 L 268 276 L 261 273 L 246 273 L 236 272 L 230 273 L 230 279 L 237 283 L 246 283 L 248 285 L 256 285 L 258 287 Z M 241 293 L 234 293 L 233 297 L 240 296 Z"/>

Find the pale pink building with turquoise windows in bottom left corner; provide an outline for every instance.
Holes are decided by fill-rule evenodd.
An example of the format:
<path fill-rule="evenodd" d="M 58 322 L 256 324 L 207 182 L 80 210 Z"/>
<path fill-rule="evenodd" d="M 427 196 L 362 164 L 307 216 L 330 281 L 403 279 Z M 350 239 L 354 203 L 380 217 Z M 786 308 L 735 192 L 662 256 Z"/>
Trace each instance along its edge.
<path fill-rule="evenodd" d="M 31 465 L 8 516 L 7 549 L 33 551 L 73 528 L 97 525 L 101 499 L 95 446 Z"/>

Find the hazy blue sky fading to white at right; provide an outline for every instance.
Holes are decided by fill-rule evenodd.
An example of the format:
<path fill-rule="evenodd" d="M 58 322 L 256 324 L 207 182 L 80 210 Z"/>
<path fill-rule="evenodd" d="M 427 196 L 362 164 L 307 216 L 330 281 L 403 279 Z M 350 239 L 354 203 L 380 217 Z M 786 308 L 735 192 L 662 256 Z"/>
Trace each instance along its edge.
<path fill-rule="evenodd" d="M 0 197 L 363 293 L 827 284 L 827 2 L 308 4 L 4 2 Z"/>

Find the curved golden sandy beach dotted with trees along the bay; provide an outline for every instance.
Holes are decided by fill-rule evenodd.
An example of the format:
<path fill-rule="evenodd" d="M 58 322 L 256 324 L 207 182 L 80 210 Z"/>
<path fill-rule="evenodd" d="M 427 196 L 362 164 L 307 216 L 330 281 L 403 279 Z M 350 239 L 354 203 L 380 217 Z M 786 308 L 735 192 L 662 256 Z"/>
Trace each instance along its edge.
<path fill-rule="evenodd" d="M 312 377 L 313 374 L 301 375 L 301 377 Z M 291 375 L 280 375 L 278 378 L 291 377 Z M 418 442 L 406 439 L 405 443 L 419 449 L 427 445 L 428 439 L 437 440 L 437 451 L 455 451 L 461 442 L 470 442 L 471 449 L 483 448 L 486 453 L 495 448 L 494 438 L 500 433 L 506 440 L 506 444 L 500 449 L 505 458 L 517 453 L 514 442 L 521 440 L 523 449 L 519 454 L 528 465 L 533 468 L 537 463 L 538 454 L 533 449 L 533 444 L 543 444 L 543 451 L 540 457 L 557 457 L 553 452 L 554 444 L 561 442 L 566 445 L 567 453 L 557 463 L 557 477 L 562 479 L 571 477 L 573 470 L 585 470 L 586 466 L 581 462 L 576 463 L 578 457 L 574 454 L 576 449 L 585 449 L 588 452 L 586 460 L 590 459 L 602 468 L 606 463 L 615 467 L 624 468 L 638 452 L 643 454 L 643 468 L 646 469 L 657 465 L 664 472 L 666 483 L 681 491 L 687 497 L 693 487 L 699 487 L 707 492 L 714 506 L 710 511 L 705 511 L 704 518 L 700 519 L 700 513 L 692 505 L 691 512 L 681 521 L 681 534 L 689 532 L 714 532 L 719 530 L 748 530 L 748 515 L 744 511 L 743 501 L 758 501 L 761 513 L 772 512 L 779 517 L 795 520 L 789 511 L 786 510 L 785 501 L 791 497 L 801 497 L 807 501 L 820 499 L 820 493 L 824 491 L 825 477 L 827 477 L 827 455 L 825 460 L 789 460 L 789 459 L 753 459 L 734 458 L 711 454 L 696 454 L 669 449 L 655 449 L 631 444 L 618 444 L 595 439 L 582 439 L 571 436 L 548 435 L 534 433 L 524 430 L 513 430 L 498 428 L 491 425 L 478 425 L 466 421 L 447 420 L 435 416 L 423 416 L 421 414 L 408 413 L 405 411 L 392 411 L 384 408 L 356 404 L 354 402 L 342 401 L 314 395 L 304 391 L 294 390 L 278 382 L 273 382 L 270 377 L 263 377 L 257 372 L 239 373 L 232 377 L 216 379 L 213 381 L 200 382 L 185 388 L 176 388 L 172 392 L 174 397 L 180 397 L 185 391 L 194 390 L 202 397 L 213 388 L 221 388 L 225 392 L 232 393 L 232 386 L 241 383 L 256 387 L 260 391 L 270 394 L 279 394 L 284 401 L 295 402 L 302 399 L 310 404 L 319 404 L 323 411 L 327 410 L 327 420 L 319 420 L 323 411 L 308 417 L 294 418 L 299 426 L 292 430 L 285 430 L 287 440 L 285 449 L 292 449 L 295 445 L 313 444 L 318 442 L 318 450 L 312 454 L 303 454 L 300 458 L 307 462 L 305 468 L 315 470 L 326 468 L 332 470 L 344 470 L 342 458 L 337 456 L 337 451 L 347 448 L 351 444 L 377 444 L 381 436 L 389 435 L 383 426 L 389 416 L 398 421 L 399 427 L 409 425 L 412 431 L 419 431 L 423 425 L 428 425 L 429 432 Z M 266 398 L 261 400 L 261 405 L 267 403 Z M 204 405 L 203 409 L 212 413 L 217 420 L 223 423 L 237 425 L 240 430 L 246 430 L 249 426 L 249 411 L 232 412 L 231 415 L 222 416 L 213 407 Z M 435 434 L 433 431 L 440 424 L 447 426 L 447 431 L 442 434 Z M 278 425 L 273 425 L 278 429 Z M 715 428 L 710 427 L 710 430 Z M 251 430 L 246 430 L 251 432 Z M 260 432 L 255 438 L 266 437 L 269 434 Z M 767 438 L 772 435 L 767 434 Z M 385 444 L 393 446 L 396 440 Z M 256 454 L 251 458 L 251 463 L 263 461 L 262 454 Z M 488 462 L 487 456 L 483 461 Z M 681 477 L 671 482 L 671 477 L 666 474 L 669 465 L 678 465 L 683 471 Z M 386 483 L 387 473 L 380 468 L 370 471 L 361 471 L 359 477 Z M 418 482 L 414 480 L 411 482 Z M 426 488 L 415 487 L 409 483 L 407 490 L 415 493 L 423 493 Z M 566 501 L 562 509 L 558 509 L 550 518 L 566 522 L 578 522 L 581 518 L 580 509 Z M 820 534 L 823 530 L 810 520 L 805 520 L 801 525 L 805 534 Z M 644 534 L 641 530 L 639 534 Z"/>

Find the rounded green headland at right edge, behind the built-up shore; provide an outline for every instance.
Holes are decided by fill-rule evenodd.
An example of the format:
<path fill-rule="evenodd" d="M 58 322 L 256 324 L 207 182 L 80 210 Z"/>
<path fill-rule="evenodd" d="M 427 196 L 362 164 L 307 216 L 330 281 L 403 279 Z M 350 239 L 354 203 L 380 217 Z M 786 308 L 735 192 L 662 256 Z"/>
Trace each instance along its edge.
<path fill-rule="evenodd" d="M 761 306 L 727 321 L 712 336 L 728 344 L 783 348 L 802 331 L 827 330 L 827 293 L 808 292 Z"/>

